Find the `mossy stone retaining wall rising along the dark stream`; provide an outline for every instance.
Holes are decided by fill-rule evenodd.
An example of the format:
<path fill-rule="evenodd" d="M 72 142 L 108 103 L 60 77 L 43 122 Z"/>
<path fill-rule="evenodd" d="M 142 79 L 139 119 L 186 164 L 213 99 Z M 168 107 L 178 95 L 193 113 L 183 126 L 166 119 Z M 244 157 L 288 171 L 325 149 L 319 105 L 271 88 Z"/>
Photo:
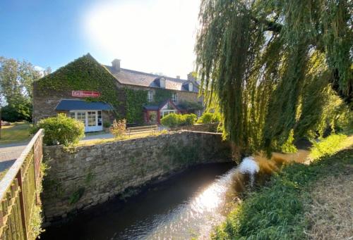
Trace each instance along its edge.
<path fill-rule="evenodd" d="M 129 189 L 199 163 L 231 160 L 221 134 L 174 132 L 155 137 L 78 147 L 44 147 L 49 165 L 42 203 L 46 222 L 103 203 Z"/>

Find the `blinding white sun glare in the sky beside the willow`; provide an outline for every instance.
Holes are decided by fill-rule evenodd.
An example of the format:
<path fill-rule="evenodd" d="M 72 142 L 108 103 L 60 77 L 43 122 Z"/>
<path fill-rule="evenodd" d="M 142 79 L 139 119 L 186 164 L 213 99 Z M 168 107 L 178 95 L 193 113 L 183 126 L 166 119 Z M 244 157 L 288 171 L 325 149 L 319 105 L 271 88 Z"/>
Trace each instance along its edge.
<path fill-rule="evenodd" d="M 175 76 L 193 70 L 199 0 L 108 1 L 90 6 L 85 36 L 122 68 Z"/>

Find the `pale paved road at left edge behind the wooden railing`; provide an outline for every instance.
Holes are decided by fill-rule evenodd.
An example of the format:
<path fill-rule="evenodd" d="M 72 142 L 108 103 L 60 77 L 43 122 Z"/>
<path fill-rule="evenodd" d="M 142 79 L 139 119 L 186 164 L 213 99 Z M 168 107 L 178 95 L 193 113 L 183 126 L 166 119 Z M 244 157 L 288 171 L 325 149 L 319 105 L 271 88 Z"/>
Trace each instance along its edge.
<path fill-rule="evenodd" d="M 0 145 L 0 172 L 10 168 L 28 142 Z"/>

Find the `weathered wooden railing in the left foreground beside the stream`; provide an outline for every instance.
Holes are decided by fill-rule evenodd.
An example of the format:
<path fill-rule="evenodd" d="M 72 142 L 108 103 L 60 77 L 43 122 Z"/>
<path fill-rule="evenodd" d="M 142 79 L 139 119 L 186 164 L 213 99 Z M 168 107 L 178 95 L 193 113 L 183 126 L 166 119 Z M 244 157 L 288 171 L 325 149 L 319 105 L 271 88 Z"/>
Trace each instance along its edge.
<path fill-rule="evenodd" d="M 39 130 L 0 181 L 1 240 L 36 237 L 32 221 L 41 205 L 43 136 L 44 130 Z"/>

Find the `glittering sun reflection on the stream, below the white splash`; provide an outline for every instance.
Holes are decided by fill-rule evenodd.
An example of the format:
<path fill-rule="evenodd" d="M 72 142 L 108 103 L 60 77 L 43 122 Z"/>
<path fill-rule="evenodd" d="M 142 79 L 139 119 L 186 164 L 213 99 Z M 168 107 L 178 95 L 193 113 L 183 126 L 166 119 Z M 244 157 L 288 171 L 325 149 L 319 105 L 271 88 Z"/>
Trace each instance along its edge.
<path fill-rule="evenodd" d="M 132 234 L 131 239 L 208 239 L 213 227 L 225 220 L 222 214 L 225 197 L 235 171 L 234 168 L 215 179 L 213 184 L 199 189 L 189 201 L 181 203 L 166 215 L 156 216 L 147 234 Z M 138 232 L 144 227 L 140 225 L 139 228 Z M 132 236 L 131 232 L 128 234 Z"/>

